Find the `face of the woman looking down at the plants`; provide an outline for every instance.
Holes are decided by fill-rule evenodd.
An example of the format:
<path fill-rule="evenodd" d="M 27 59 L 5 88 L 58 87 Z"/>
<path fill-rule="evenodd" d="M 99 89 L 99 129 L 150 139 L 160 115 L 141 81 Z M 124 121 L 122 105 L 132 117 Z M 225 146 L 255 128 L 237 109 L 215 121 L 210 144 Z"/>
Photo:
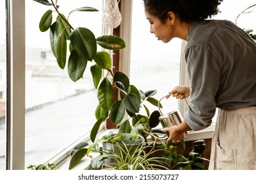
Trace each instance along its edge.
<path fill-rule="evenodd" d="M 173 39 L 173 25 L 171 20 L 167 19 L 163 24 L 156 16 L 152 16 L 145 10 L 146 19 L 150 22 L 150 33 L 154 33 L 158 40 L 169 42 Z"/>

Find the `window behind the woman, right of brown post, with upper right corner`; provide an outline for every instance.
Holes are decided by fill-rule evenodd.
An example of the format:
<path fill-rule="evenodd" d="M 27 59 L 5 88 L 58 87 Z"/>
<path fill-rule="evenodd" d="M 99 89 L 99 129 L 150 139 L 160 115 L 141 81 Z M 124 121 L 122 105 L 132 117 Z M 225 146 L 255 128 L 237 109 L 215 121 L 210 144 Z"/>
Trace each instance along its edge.
<path fill-rule="evenodd" d="M 226 19 L 236 22 L 236 16 L 250 5 L 254 5 L 255 0 L 250 1 L 223 1 L 220 6 L 221 13 L 213 19 Z M 256 30 L 253 20 L 253 9 L 251 14 L 242 14 L 238 19 L 238 26 L 245 29 Z M 184 43 L 184 44 L 182 44 Z M 131 82 L 135 86 L 140 86 L 143 91 L 158 90 L 156 99 L 161 99 L 167 95 L 177 85 L 189 85 L 186 69 L 184 66 L 184 45 L 179 39 L 173 39 L 168 43 L 158 41 L 153 34 L 150 34 L 150 24 L 144 15 L 142 1 L 133 1 L 133 23 L 131 35 Z M 170 98 L 171 99 L 171 98 Z M 176 99 L 161 101 L 163 113 L 179 109 L 184 114 L 187 106 L 184 102 Z M 152 109 L 154 110 L 154 109 Z M 217 114 L 217 112 L 216 112 Z M 213 118 L 215 122 L 217 115 Z"/>

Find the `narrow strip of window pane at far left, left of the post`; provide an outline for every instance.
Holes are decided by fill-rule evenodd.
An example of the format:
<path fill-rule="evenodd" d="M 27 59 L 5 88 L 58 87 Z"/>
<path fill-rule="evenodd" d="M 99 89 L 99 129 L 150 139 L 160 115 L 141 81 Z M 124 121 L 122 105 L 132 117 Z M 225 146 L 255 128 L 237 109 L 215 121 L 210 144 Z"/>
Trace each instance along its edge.
<path fill-rule="evenodd" d="M 5 102 L 6 102 L 6 37 L 5 37 L 5 1 L 0 0 L 0 170 L 5 169 L 6 156 L 6 129 L 5 129 Z"/>

